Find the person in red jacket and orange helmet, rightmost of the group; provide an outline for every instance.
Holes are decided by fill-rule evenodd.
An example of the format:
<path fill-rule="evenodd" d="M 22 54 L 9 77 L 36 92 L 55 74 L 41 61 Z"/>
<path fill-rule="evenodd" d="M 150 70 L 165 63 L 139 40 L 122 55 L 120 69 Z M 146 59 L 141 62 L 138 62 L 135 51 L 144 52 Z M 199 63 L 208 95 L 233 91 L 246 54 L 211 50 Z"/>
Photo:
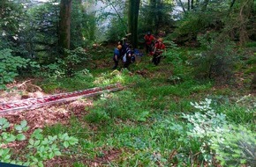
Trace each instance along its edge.
<path fill-rule="evenodd" d="M 166 51 L 165 45 L 162 43 L 162 38 L 158 39 L 157 42 L 154 45 L 154 52 L 153 52 L 153 59 L 152 62 L 154 65 L 158 65 L 163 51 Z"/>

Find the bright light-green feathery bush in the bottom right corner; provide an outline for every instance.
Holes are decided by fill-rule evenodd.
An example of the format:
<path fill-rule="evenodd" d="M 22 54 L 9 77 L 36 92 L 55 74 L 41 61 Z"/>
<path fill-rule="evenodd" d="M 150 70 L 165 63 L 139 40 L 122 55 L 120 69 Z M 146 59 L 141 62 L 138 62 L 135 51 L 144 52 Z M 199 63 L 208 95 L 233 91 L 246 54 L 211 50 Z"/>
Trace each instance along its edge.
<path fill-rule="evenodd" d="M 227 127 L 211 139 L 211 149 L 222 166 L 255 166 L 256 134 L 243 126 Z"/>

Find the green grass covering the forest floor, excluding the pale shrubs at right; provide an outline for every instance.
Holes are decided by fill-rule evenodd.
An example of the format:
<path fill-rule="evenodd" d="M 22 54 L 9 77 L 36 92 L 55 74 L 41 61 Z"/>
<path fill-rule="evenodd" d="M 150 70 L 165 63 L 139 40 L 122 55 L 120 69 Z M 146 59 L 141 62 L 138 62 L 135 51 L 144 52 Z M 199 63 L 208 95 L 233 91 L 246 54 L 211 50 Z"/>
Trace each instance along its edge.
<path fill-rule="evenodd" d="M 92 161 L 107 156 L 106 151 L 119 150 L 120 155 L 104 162 L 106 166 L 191 166 L 206 162 L 200 150 L 201 141 L 187 136 L 187 122 L 181 117 L 182 113 L 196 112 L 190 102 L 213 98 L 217 113 L 226 114 L 227 120 L 233 124 L 255 130 L 255 112 L 248 112 L 245 106 L 252 100 L 233 105 L 230 98 L 234 96 L 232 88 L 213 91 L 212 82 L 199 82 L 188 73 L 183 74 L 190 69 L 185 65 L 179 72 L 183 74 L 182 81 L 174 84 L 169 82 L 168 75 L 173 71 L 176 74 L 172 75 L 177 75 L 178 71 L 173 69 L 175 64 L 162 61 L 155 67 L 148 61 L 149 57 L 143 57 L 138 65 L 132 64 L 132 73 L 126 69 L 96 69 L 91 71 L 92 77 L 80 75 L 76 80 L 64 79 L 46 85 L 49 90 L 56 89 L 55 85 L 65 90 L 79 90 L 117 82 L 128 87 L 95 100 L 94 107 L 87 108 L 90 112 L 84 118 L 72 117 L 69 126 L 56 124 L 44 128 L 44 133 L 72 134 L 79 139 L 78 155 L 87 156 Z M 135 74 L 142 69 L 150 75 Z M 73 165 L 88 164 L 76 162 Z"/>

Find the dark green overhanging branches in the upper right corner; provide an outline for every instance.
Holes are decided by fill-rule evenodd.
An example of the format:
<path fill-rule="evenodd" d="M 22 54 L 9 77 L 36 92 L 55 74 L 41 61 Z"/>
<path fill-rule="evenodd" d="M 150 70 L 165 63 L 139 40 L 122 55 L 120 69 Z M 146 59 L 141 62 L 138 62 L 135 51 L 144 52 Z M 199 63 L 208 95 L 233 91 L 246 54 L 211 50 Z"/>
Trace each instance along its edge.
<path fill-rule="evenodd" d="M 231 5 L 230 5 L 231 4 Z M 185 11 L 171 38 L 179 44 L 196 46 L 201 34 L 215 33 L 216 37 L 227 36 L 239 40 L 240 44 L 249 40 L 253 33 L 253 1 L 204 1 L 194 4 Z"/>

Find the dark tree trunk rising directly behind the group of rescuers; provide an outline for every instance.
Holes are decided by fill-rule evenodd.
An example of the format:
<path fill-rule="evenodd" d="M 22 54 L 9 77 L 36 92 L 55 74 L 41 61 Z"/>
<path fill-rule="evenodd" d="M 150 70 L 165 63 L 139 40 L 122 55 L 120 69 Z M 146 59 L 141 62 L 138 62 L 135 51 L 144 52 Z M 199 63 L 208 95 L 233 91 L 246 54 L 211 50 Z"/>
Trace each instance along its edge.
<path fill-rule="evenodd" d="M 140 0 L 130 0 L 128 7 L 128 32 L 132 33 L 132 46 L 138 46 L 137 32 L 138 32 L 138 17 L 139 17 Z"/>

